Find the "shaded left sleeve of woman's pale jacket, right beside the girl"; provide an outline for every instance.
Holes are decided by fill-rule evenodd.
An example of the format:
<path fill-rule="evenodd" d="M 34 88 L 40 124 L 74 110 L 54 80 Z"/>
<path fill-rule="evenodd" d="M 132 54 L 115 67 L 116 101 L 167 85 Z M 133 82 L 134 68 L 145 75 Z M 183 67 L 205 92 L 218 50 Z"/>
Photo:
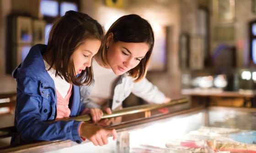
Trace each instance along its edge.
<path fill-rule="evenodd" d="M 93 102 L 91 99 L 89 99 L 89 95 L 91 94 L 91 90 L 93 88 L 93 83 L 89 85 L 81 85 L 80 86 L 80 96 L 81 96 L 81 102 L 85 106 L 85 108 L 101 108 L 98 104 Z"/>

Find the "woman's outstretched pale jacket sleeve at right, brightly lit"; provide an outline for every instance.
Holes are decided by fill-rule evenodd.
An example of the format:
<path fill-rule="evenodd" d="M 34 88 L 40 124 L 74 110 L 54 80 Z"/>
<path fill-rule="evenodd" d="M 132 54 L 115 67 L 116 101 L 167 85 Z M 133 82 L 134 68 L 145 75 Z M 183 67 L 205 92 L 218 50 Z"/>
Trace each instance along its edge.
<path fill-rule="evenodd" d="M 160 104 L 165 100 L 165 94 L 146 78 L 133 83 L 132 93 L 146 100 L 148 103 Z"/>

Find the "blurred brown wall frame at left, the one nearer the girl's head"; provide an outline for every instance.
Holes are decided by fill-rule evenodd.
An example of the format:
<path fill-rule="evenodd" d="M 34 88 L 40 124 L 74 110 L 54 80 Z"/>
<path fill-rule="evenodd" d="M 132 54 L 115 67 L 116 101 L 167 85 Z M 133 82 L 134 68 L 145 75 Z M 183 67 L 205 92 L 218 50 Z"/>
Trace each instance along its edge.
<path fill-rule="evenodd" d="M 33 20 L 33 44 L 45 43 L 45 26 L 46 21 L 34 19 Z"/>

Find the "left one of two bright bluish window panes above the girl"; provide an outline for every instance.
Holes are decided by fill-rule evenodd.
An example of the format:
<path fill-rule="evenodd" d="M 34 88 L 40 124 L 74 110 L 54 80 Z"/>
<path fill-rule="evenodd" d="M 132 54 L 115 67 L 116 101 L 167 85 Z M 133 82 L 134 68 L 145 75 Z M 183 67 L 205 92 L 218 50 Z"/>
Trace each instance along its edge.
<path fill-rule="evenodd" d="M 59 4 L 55 0 L 42 0 L 40 3 L 40 12 L 44 16 L 58 16 Z"/>

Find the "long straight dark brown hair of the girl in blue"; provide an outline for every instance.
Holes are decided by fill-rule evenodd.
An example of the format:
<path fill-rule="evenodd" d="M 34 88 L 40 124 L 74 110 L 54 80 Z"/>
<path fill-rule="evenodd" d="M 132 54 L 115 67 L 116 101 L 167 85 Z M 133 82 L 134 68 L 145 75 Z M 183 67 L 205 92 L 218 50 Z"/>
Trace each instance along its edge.
<path fill-rule="evenodd" d="M 55 76 L 69 83 L 90 85 L 93 81 L 92 68 L 86 67 L 77 77 L 71 56 L 86 39 L 101 41 L 102 37 L 102 27 L 96 20 L 81 12 L 67 11 L 54 22 L 49 33 L 46 52 L 51 51 L 53 56 L 49 69 L 54 65 Z"/>

